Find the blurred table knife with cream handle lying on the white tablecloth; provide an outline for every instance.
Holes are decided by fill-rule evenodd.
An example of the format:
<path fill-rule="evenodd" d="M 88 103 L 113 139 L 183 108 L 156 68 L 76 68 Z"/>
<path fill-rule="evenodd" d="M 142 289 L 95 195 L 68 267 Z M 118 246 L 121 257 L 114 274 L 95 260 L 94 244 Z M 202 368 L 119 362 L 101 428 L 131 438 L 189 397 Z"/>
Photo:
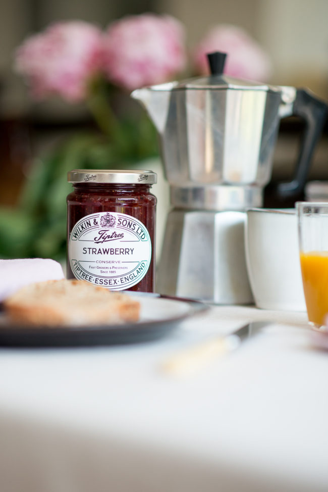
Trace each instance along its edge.
<path fill-rule="evenodd" d="M 226 336 L 215 336 L 197 345 L 184 349 L 161 364 L 161 371 L 167 374 L 186 374 L 195 372 L 218 356 L 237 349 L 244 340 L 256 335 L 270 321 L 247 323 Z"/>

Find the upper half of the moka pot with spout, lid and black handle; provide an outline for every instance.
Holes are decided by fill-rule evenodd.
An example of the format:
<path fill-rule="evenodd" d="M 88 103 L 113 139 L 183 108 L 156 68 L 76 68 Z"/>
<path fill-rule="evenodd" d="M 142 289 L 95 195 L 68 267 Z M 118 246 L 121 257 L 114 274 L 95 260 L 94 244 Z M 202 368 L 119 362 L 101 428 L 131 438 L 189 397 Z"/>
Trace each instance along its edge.
<path fill-rule="evenodd" d="M 223 73 L 226 54 L 208 55 L 211 75 L 136 89 L 161 143 L 172 205 L 209 210 L 262 206 L 280 120 L 299 116 L 305 135 L 280 196 L 303 190 L 327 106 L 290 86 L 239 80 Z"/>

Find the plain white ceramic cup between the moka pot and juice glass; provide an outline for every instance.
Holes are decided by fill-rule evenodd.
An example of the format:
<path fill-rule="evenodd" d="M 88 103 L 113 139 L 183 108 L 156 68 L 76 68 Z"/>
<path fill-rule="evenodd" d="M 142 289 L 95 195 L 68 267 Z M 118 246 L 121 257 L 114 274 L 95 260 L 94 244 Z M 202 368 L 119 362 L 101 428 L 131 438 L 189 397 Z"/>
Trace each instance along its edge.
<path fill-rule="evenodd" d="M 249 209 L 245 252 L 258 308 L 306 311 L 294 209 Z"/>

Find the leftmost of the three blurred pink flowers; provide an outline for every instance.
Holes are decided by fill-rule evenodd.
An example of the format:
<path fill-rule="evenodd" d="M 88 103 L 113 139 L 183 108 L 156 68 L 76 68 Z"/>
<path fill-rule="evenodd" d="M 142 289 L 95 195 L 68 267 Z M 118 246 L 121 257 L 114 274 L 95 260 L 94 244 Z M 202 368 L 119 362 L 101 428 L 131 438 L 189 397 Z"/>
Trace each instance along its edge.
<path fill-rule="evenodd" d="M 70 102 L 86 96 L 88 81 L 102 61 L 102 33 L 87 22 L 60 22 L 28 38 L 16 54 L 16 70 L 32 94 L 42 99 L 58 94 Z"/>

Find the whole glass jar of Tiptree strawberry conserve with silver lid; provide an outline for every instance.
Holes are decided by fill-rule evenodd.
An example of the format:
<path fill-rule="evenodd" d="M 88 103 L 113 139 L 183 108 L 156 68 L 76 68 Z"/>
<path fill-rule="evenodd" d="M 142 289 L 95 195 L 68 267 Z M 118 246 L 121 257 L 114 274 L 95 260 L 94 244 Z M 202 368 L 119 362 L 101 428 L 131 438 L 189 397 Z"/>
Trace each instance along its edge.
<path fill-rule="evenodd" d="M 110 290 L 154 291 L 152 171 L 75 169 L 67 197 L 67 277 Z"/>

